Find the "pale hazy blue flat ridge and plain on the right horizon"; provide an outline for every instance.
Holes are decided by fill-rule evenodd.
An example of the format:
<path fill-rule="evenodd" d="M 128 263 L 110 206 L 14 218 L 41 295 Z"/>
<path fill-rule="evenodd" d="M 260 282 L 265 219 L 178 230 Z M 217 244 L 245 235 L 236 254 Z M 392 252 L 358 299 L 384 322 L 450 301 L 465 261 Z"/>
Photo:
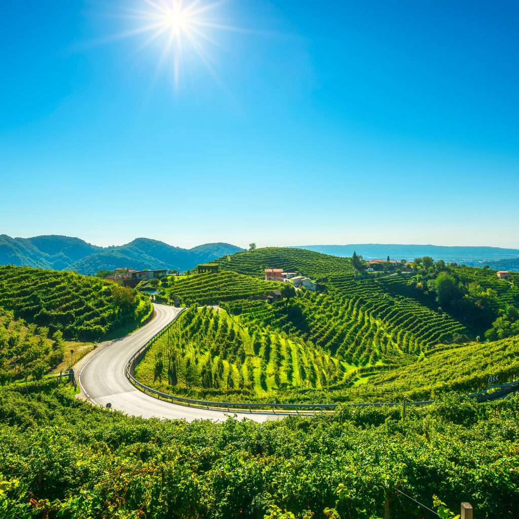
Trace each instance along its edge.
<path fill-rule="evenodd" d="M 445 247 L 443 245 L 400 245 L 395 243 L 354 243 L 349 245 L 299 245 L 299 249 L 349 257 L 353 251 L 365 260 L 375 260 L 389 256 L 391 260 L 412 261 L 415 257 L 431 256 L 434 260 L 464 263 L 481 266 L 489 262 L 498 262 L 491 268 L 500 269 L 504 261 L 512 261 L 508 270 L 517 270 L 519 266 L 519 249 L 501 249 L 499 247 Z M 513 268 L 515 265 L 515 268 Z"/>

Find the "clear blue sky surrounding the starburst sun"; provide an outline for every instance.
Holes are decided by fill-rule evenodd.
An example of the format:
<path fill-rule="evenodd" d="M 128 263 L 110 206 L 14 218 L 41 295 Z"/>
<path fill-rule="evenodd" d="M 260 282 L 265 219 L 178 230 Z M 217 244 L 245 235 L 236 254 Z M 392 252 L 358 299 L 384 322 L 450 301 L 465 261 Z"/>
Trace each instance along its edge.
<path fill-rule="evenodd" d="M 229 0 L 176 83 L 130 9 L 2 5 L 0 233 L 519 247 L 514 0 Z"/>

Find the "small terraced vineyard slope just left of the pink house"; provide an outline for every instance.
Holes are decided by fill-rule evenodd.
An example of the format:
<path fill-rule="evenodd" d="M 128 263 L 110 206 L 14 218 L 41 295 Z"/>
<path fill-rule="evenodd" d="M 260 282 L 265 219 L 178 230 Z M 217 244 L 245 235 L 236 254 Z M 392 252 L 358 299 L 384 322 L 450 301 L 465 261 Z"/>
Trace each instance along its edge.
<path fill-rule="evenodd" d="M 174 277 L 170 279 L 175 279 Z M 259 297 L 280 290 L 283 283 L 263 281 L 231 271 L 192 274 L 166 289 L 169 299 L 179 296 L 182 305 L 215 305 L 243 297 Z"/>

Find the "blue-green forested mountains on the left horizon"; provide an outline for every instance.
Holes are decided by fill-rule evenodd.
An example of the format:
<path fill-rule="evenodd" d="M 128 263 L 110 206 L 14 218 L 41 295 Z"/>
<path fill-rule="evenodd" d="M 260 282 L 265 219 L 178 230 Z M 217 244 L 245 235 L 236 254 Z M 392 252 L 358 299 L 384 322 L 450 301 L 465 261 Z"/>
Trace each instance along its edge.
<path fill-rule="evenodd" d="M 137 238 L 118 247 L 98 247 L 67 236 L 11 238 L 0 235 L 0 265 L 76 270 L 80 274 L 95 274 L 98 270 L 117 267 L 183 271 L 241 250 L 229 243 L 206 243 L 193 249 L 182 249 L 162 241 Z"/>

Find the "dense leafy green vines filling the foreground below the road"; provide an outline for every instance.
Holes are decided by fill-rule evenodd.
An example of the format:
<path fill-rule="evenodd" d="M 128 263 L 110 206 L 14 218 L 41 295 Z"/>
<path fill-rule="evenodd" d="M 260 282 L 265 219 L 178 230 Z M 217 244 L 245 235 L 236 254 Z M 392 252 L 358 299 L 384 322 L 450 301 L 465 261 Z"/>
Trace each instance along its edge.
<path fill-rule="evenodd" d="M 428 517 L 394 489 L 477 519 L 519 510 L 517 398 L 187 424 L 33 390 L 1 395 L 1 517 L 374 519 L 386 495 L 392 518 Z"/>

